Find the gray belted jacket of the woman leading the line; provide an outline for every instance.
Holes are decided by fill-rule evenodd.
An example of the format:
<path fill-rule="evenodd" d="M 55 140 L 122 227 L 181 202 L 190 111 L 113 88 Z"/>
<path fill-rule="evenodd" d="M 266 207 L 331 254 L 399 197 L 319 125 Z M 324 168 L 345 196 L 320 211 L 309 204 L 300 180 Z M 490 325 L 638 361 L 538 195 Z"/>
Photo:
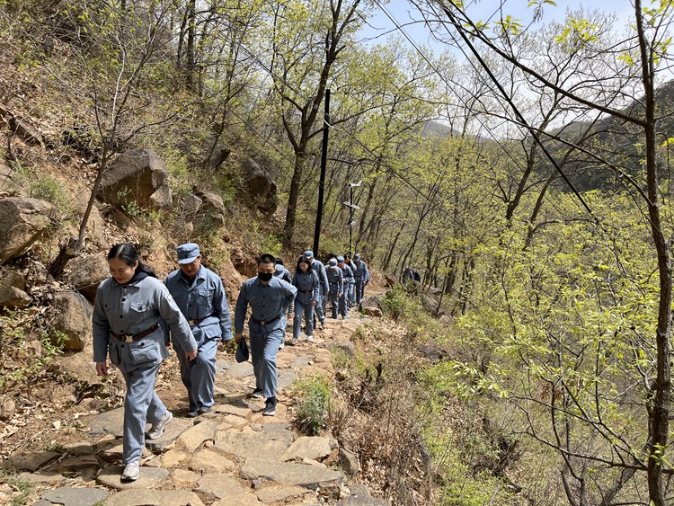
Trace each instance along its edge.
<path fill-rule="evenodd" d="M 111 332 L 143 333 L 162 318 L 184 351 L 197 349 L 190 325 L 160 280 L 147 277 L 126 285 L 114 278 L 104 280 L 93 303 L 93 361 L 104 362 L 110 352 L 111 362 L 126 372 L 160 363 L 168 357 L 160 327 L 136 342 L 120 341 Z"/>

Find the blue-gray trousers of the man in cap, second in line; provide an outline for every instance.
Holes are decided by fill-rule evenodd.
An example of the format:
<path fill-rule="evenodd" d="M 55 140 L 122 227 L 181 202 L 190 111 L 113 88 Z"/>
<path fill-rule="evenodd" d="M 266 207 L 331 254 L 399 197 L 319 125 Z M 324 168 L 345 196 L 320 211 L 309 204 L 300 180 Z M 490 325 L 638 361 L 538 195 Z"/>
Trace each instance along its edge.
<path fill-rule="evenodd" d="M 211 407 L 214 385 L 216 381 L 216 353 L 219 339 L 211 339 L 199 347 L 197 358 L 189 360 L 178 342 L 173 342 L 175 352 L 181 364 L 182 385 L 187 388 L 190 411 L 197 411 L 201 406 Z"/>

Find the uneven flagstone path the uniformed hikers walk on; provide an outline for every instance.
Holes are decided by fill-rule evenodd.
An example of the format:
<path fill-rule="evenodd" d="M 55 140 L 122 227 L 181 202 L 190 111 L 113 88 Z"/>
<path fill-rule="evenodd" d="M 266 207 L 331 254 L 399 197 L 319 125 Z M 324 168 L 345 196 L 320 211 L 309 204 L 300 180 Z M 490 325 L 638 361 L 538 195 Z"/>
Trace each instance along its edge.
<path fill-rule="evenodd" d="M 293 382 L 316 374 L 332 378 L 331 350 L 353 355 L 350 337 L 368 322 L 355 311 L 344 321 L 329 318 L 314 344 L 301 334 L 297 346 L 279 351 L 273 417 L 262 416 L 263 399 L 248 396 L 254 387 L 250 362 L 218 360 L 216 406 L 197 419 L 185 417 L 186 395 L 176 377 L 160 391 L 173 421 L 161 439 L 147 441 L 136 482 L 120 481 L 122 408 L 98 415 L 89 440 L 62 453 L 16 456 L 11 464 L 22 480 L 44 491 L 34 503 L 40 506 L 387 504 L 357 483 L 355 456 L 330 436 L 294 431 L 288 409 Z M 287 337 L 289 342 L 290 326 Z"/>

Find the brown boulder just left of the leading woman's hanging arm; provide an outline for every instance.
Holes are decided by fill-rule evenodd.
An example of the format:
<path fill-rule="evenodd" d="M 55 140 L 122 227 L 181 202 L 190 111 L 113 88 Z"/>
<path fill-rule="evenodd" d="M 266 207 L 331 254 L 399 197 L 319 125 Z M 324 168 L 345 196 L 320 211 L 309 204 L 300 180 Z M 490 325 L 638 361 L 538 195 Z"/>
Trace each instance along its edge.
<path fill-rule="evenodd" d="M 54 330 L 66 335 L 65 351 L 82 351 L 92 341 L 92 306 L 77 292 L 60 292 L 53 302 Z"/>

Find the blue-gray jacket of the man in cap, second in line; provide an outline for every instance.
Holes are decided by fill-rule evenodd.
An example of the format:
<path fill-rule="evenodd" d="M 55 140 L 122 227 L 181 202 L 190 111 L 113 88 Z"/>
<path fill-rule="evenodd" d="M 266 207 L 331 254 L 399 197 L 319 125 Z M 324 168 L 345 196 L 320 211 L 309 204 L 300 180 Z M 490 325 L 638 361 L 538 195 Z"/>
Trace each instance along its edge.
<path fill-rule="evenodd" d="M 196 279 L 190 285 L 182 271 L 177 269 L 166 277 L 164 285 L 188 323 L 192 322 L 192 333 L 200 346 L 214 339 L 232 339 L 232 322 L 225 289 L 215 272 L 201 265 Z M 162 328 L 168 342 L 168 325 L 162 322 Z"/>

